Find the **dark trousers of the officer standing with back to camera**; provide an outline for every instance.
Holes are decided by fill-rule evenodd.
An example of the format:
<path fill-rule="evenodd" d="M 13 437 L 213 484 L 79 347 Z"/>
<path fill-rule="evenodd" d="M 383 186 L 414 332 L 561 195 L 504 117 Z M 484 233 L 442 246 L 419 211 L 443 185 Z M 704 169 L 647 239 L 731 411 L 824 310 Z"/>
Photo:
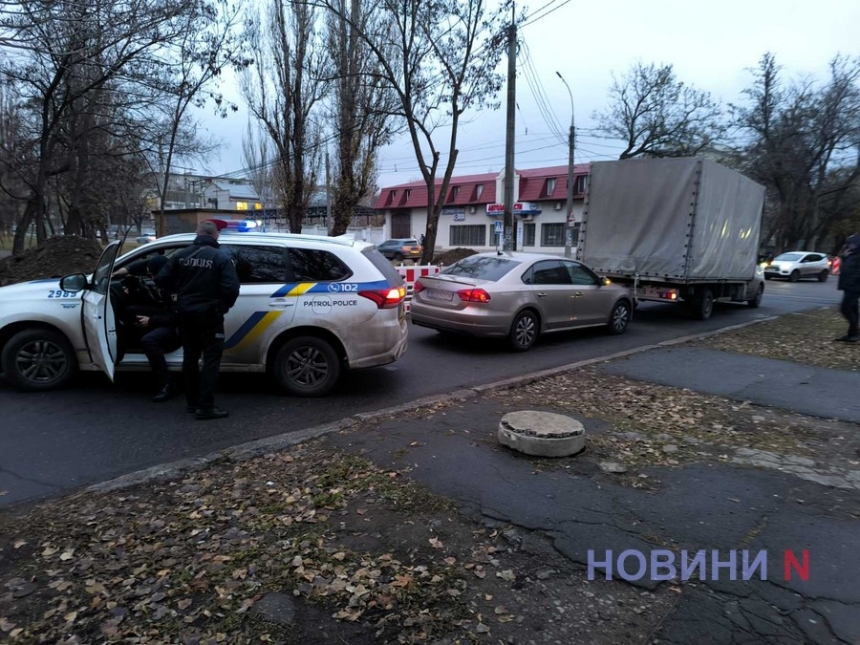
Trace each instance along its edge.
<path fill-rule="evenodd" d="M 218 370 L 224 352 L 224 317 L 180 314 L 179 334 L 188 405 L 211 410 L 215 407 L 215 386 L 218 385 Z M 202 369 L 198 366 L 201 356 Z"/>

